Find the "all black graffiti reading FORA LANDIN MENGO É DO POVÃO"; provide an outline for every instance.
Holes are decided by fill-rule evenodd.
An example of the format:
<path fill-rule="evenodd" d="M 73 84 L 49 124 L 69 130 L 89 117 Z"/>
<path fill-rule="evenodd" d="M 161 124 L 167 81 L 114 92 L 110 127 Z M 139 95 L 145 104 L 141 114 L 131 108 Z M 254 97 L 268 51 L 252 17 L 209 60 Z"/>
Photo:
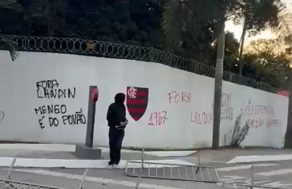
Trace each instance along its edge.
<path fill-rule="evenodd" d="M 37 98 L 68 98 L 74 99 L 76 88 L 59 89 L 57 80 L 44 80 L 36 83 Z M 46 126 L 57 127 L 63 125 L 86 124 L 86 118 L 82 108 L 74 113 L 68 113 L 66 104 L 46 104 L 34 108 L 39 116 L 38 124 L 43 129 Z"/>

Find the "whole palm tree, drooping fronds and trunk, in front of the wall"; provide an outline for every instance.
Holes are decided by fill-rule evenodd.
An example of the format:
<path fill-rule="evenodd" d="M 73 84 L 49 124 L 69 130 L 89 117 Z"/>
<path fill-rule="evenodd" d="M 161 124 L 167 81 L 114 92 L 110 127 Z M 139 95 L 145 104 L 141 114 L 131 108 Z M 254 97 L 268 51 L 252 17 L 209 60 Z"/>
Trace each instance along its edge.
<path fill-rule="evenodd" d="M 214 89 L 214 119 L 213 119 L 213 140 L 212 148 L 219 149 L 219 128 L 221 121 L 221 95 L 223 80 L 223 60 L 225 46 L 225 21 L 227 20 L 226 1 L 206 0 L 152 0 L 159 5 L 163 5 L 162 30 L 167 40 L 168 47 L 181 46 L 180 36 L 183 32 L 195 33 L 195 27 L 198 22 L 206 23 L 211 20 L 219 20 L 219 37 L 217 60 L 215 69 L 215 89 Z M 230 7 L 229 7 L 230 8 Z M 212 12 L 212 14 L 206 14 Z M 196 15 L 201 15 L 198 19 Z M 202 16 L 203 15 L 203 16 Z M 204 19 L 204 20 L 203 20 Z"/>

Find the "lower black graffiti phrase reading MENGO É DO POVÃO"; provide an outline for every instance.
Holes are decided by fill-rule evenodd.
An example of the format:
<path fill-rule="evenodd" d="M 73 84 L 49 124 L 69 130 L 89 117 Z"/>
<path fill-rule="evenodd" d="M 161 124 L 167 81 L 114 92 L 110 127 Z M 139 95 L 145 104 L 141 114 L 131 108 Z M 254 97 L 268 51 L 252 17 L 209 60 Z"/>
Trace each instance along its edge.
<path fill-rule="evenodd" d="M 40 127 L 43 129 L 45 128 L 44 125 L 44 119 L 45 114 L 49 114 L 48 120 L 49 120 L 49 126 L 55 126 L 57 127 L 60 123 L 59 119 L 56 116 L 53 116 L 52 114 L 61 114 L 61 121 L 64 125 L 79 125 L 79 124 L 86 124 L 86 118 L 85 115 L 82 112 L 82 109 L 80 108 L 80 111 L 75 112 L 75 114 L 65 114 L 67 112 L 67 107 L 65 104 L 55 104 L 55 105 L 45 105 L 40 106 L 38 108 L 34 108 L 34 111 L 37 115 L 42 115 L 41 119 L 38 120 L 38 123 L 40 124 Z"/>

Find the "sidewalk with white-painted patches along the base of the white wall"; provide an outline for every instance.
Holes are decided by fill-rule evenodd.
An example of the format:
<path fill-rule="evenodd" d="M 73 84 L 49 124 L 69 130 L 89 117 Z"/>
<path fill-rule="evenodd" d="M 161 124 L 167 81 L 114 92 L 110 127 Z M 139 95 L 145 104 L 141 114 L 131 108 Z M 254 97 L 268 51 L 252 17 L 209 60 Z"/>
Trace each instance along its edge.
<path fill-rule="evenodd" d="M 79 159 L 74 156 L 75 145 L 70 144 L 0 144 L 0 166 L 10 166 L 15 157 L 17 167 L 105 168 L 109 161 L 109 148 L 101 148 L 101 160 Z M 271 156 L 275 155 L 275 156 Z M 198 158 L 199 156 L 199 158 Z M 242 157 L 243 156 L 243 157 Z M 221 149 L 196 151 L 145 152 L 144 161 L 173 164 L 226 164 L 255 161 L 292 159 L 292 149 Z M 267 158 L 268 157 L 268 158 Z M 142 152 L 121 151 L 121 167 L 127 160 L 141 161 Z M 270 160 L 269 160 L 270 158 Z M 286 160 L 285 159 L 285 160 Z M 136 166 L 136 165 L 135 165 Z"/>

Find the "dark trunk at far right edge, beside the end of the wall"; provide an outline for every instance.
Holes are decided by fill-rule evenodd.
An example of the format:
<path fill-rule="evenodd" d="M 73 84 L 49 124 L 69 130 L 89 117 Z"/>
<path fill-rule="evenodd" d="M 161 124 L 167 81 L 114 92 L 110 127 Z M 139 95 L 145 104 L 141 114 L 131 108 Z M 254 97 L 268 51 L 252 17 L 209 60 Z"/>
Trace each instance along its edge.
<path fill-rule="evenodd" d="M 289 105 L 284 148 L 292 148 L 292 69 L 290 68 Z"/>

